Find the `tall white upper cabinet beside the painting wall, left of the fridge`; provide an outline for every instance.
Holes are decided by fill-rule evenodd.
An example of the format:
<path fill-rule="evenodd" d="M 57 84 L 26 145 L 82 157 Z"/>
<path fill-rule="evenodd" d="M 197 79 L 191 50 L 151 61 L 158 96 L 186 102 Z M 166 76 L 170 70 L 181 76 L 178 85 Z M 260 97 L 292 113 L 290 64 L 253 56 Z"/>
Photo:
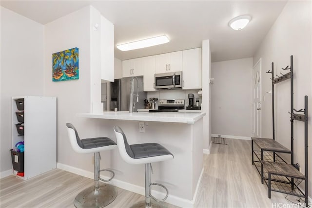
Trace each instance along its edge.
<path fill-rule="evenodd" d="M 114 24 L 103 16 L 100 20 L 101 80 L 114 81 Z"/>

